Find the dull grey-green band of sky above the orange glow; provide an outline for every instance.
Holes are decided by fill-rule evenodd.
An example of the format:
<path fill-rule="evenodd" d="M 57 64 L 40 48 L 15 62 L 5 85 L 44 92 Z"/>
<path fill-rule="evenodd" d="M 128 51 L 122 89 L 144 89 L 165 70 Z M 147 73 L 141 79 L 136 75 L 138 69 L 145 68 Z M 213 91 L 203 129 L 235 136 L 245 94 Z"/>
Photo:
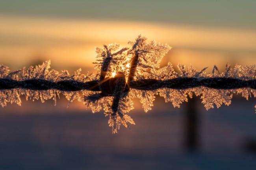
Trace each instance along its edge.
<path fill-rule="evenodd" d="M 254 0 L 2 0 L 1 14 L 256 29 Z"/>

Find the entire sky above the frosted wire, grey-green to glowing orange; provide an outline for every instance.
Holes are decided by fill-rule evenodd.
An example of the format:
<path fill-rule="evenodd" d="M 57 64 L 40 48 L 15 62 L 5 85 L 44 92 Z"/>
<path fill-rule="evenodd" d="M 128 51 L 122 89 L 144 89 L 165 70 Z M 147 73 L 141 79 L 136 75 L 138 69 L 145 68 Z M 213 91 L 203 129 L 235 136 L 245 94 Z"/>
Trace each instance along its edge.
<path fill-rule="evenodd" d="M 55 69 L 93 71 L 95 47 L 143 35 L 173 48 L 162 65 L 198 69 L 256 63 L 253 0 L 2 0 L 0 64 L 52 60 Z"/>

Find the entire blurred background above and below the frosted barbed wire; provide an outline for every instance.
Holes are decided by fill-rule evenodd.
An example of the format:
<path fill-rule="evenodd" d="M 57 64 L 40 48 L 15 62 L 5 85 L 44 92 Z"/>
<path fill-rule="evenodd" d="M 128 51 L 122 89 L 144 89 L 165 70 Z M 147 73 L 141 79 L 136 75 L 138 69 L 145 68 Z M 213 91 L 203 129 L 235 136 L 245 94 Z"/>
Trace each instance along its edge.
<path fill-rule="evenodd" d="M 256 64 L 254 0 L 2 0 L 0 64 L 14 71 L 50 59 L 52 68 L 95 72 L 95 47 L 138 35 L 173 48 L 172 62 L 223 71 Z M 235 96 L 230 106 L 206 112 L 200 97 L 181 108 L 157 97 L 136 123 L 113 135 L 102 112 L 65 97 L 0 108 L 1 170 L 256 168 L 256 99 Z"/>

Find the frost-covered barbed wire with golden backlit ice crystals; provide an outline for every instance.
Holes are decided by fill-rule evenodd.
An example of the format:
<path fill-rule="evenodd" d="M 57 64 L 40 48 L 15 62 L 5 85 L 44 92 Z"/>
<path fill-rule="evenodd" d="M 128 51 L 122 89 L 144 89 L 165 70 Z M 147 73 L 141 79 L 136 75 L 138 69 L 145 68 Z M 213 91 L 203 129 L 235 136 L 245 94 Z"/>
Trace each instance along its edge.
<path fill-rule="evenodd" d="M 171 48 L 146 40 L 139 35 L 135 41 L 128 42 L 128 48 L 120 49 L 119 44 L 96 48 L 96 74 L 83 75 L 81 69 L 72 75 L 67 70 L 61 73 L 50 70 L 50 60 L 13 72 L 1 65 L 0 104 L 2 107 L 8 102 L 20 105 L 20 95 L 33 101 L 51 99 L 56 104 L 59 93 L 63 93 L 68 105 L 78 100 L 90 107 L 93 113 L 103 107 L 112 132 L 117 133 L 121 124 L 125 127 L 135 124 L 127 115 L 134 108 L 134 98 L 140 99 L 147 112 L 151 110 L 156 95 L 179 108 L 194 93 L 200 96 L 207 110 L 214 105 L 217 108 L 223 103 L 229 105 L 234 93 L 240 93 L 247 100 L 256 97 L 255 65 L 231 68 L 227 64 L 223 73 L 214 66 L 212 73 L 206 74 L 206 68 L 197 71 L 192 66 L 186 68 L 178 64 L 179 71 L 176 72 L 171 63 L 160 68 L 161 59 Z"/>

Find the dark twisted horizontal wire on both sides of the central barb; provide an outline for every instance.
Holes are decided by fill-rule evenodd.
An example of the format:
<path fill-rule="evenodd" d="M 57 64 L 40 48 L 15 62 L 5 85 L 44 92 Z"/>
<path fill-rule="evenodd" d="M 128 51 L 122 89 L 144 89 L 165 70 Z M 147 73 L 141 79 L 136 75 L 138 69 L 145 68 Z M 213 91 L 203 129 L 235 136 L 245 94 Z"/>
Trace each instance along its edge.
<path fill-rule="evenodd" d="M 101 91 L 99 88 L 99 81 L 93 80 L 89 82 L 79 82 L 75 80 L 61 80 L 53 82 L 43 79 L 28 79 L 28 80 L 13 80 L 13 79 L 0 79 L 0 90 L 8 89 L 29 89 L 29 90 L 50 90 L 56 89 L 60 91 L 80 91 L 91 90 Z M 160 88 L 171 89 L 188 89 L 204 86 L 214 89 L 238 89 L 238 88 L 252 88 L 256 89 L 256 79 L 242 80 L 226 77 L 214 78 L 192 78 L 192 77 L 179 77 L 168 80 L 156 79 L 142 79 L 131 81 L 129 87 L 138 90 L 156 90 Z"/>

